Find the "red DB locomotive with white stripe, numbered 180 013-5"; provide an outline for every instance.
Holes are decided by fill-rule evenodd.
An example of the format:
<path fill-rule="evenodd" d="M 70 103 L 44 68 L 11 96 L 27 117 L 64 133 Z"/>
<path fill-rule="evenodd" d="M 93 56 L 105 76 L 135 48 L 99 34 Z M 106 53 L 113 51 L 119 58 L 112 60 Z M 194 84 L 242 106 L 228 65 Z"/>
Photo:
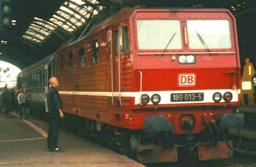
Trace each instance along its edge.
<path fill-rule="evenodd" d="M 200 160 L 233 153 L 222 129 L 243 121 L 227 9 L 124 8 L 58 49 L 56 75 L 64 124 L 140 162 L 175 162 L 178 150 Z"/>

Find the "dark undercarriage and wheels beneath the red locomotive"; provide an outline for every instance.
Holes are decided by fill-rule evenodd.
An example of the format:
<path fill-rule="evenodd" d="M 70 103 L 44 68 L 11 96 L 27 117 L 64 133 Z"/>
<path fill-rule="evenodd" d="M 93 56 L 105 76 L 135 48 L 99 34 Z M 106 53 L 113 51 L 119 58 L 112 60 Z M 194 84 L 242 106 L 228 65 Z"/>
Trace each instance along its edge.
<path fill-rule="evenodd" d="M 142 163 L 176 162 L 179 154 L 197 157 L 200 160 L 229 158 L 233 151 L 225 143 L 226 130 L 218 130 L 215 124 L 206 122 L 206 129 L 193 134 L 177 135 L 171 129 L 164 132 L 147 132 L 113 127 L 109 124 L 65 114 L 64 127 L 93 142 L 119 151 Z M 232 141 L 227 141 L 232 145 Z M 195 156 L 197 155 L 197 156 Z"/>

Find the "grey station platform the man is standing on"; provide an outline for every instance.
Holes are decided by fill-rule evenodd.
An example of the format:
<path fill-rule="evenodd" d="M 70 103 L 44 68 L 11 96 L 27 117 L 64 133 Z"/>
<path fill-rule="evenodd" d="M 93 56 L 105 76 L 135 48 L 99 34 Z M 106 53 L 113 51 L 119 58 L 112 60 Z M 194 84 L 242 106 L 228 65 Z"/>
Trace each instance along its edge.
<path fill-rule="evenodd" d="M 60 129 L 59 148 L 47 151 L 46 120 L 0 113 L 0 167 L 144 167 L 125 155 Z"/>

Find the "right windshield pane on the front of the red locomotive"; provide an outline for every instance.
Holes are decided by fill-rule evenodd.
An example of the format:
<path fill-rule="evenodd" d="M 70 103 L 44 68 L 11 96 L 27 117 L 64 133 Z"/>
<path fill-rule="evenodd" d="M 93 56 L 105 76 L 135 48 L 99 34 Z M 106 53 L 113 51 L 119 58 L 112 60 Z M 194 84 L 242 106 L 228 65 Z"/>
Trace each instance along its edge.
<path fill-rule="evenodd" d="M 187 27 L 191 49 L 231 48 L 228 20 L 188 20 Z"/>

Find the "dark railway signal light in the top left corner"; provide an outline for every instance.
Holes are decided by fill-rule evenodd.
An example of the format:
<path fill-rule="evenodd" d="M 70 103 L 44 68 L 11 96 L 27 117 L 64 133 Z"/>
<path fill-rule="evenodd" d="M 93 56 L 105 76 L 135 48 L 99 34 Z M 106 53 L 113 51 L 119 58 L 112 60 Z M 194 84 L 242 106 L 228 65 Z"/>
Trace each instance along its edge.
<path fill-rule="evenodd" d="M 0 28 L 12 25 L 12 0 L 0 0 Z"/>

